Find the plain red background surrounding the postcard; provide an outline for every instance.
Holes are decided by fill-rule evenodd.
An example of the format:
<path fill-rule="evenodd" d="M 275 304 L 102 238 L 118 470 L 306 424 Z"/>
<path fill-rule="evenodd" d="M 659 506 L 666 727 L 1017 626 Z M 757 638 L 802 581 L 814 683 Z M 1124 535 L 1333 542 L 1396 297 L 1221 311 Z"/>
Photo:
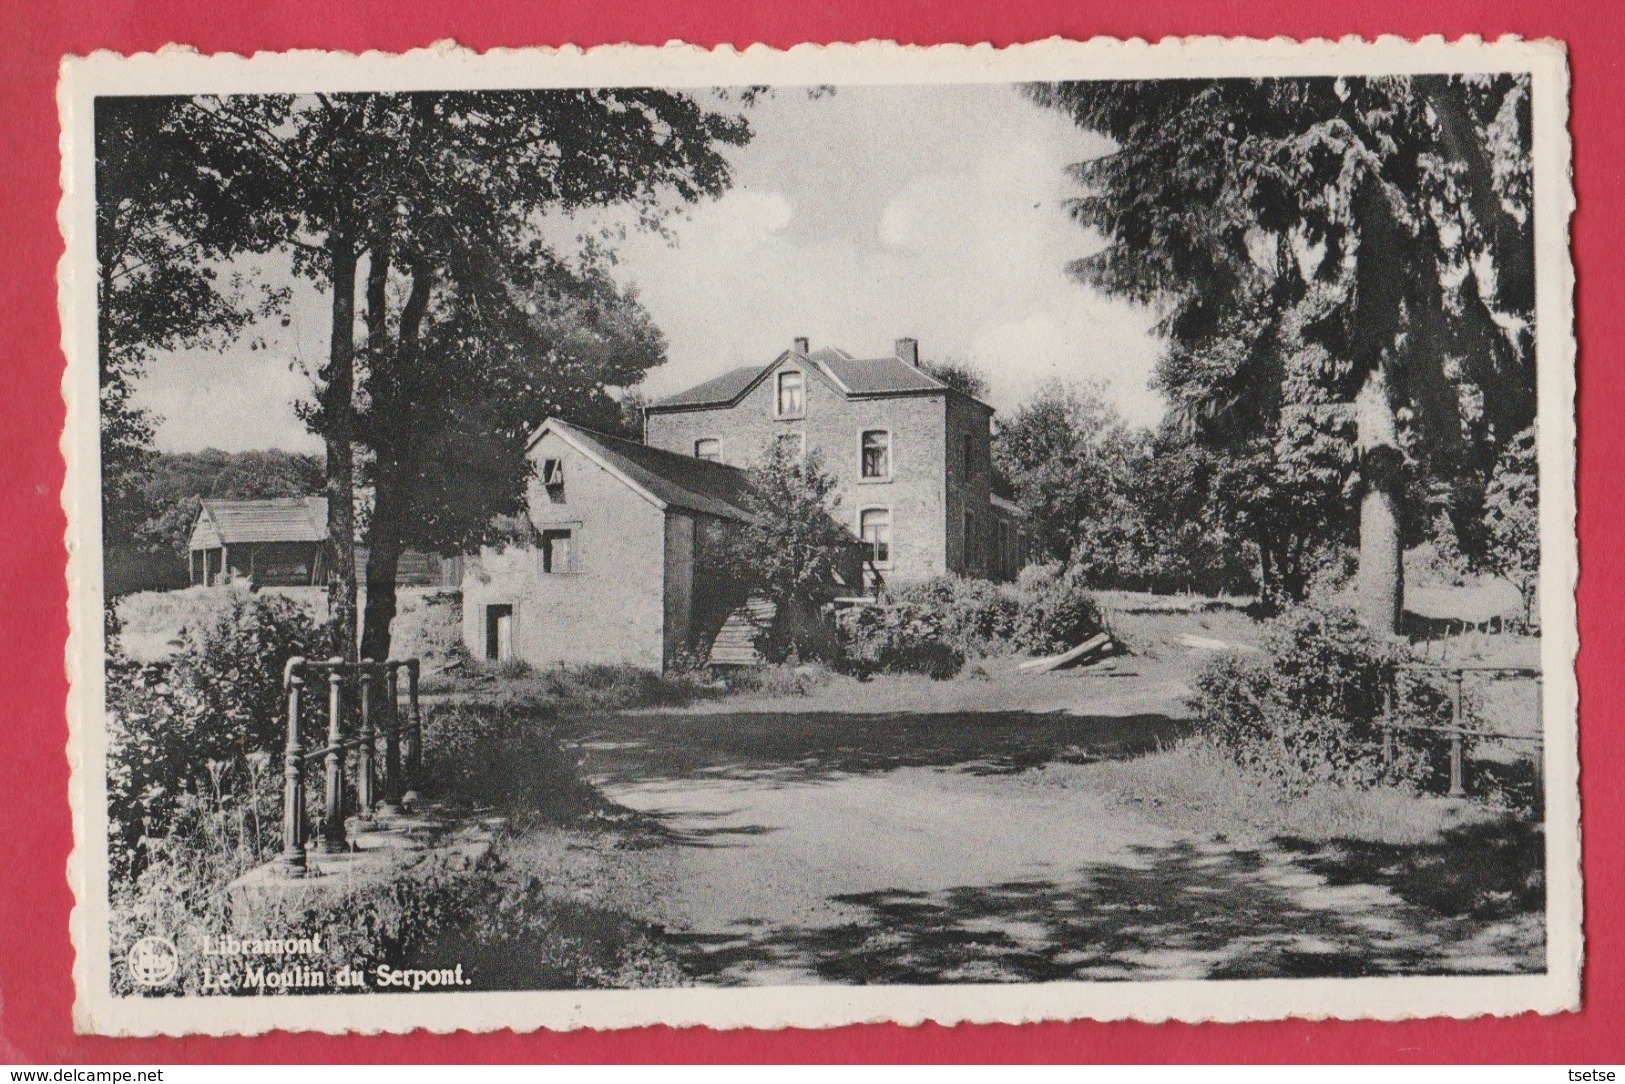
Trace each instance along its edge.
<path fill-rule="evenodd" d="M 0 15 L 0 1061 L 1625 1061 L 1625 728 L 1620 678 L 1622 580 L 1609 544 L 1625 528 L 1625 440 L 1607 419 L 1625 406 L 1620 338 L 1625 229 L 1622 18 L 1607 0 L 1173 0 L 1064 3 L 800 0 L 3 0 Z M 1580 686 L 1584 764 L 1584 1009 L 1484 1021 L 1276 1022 L 1245 1025 L 1042 1024 L 1030 1027 L 864 1025 L 826 1032 L 642 1029 L 514 1035 L 143 1038 L 73 1034 L 63 868 L 73 842 L 65 801 L 62 648 L 67 637 L 62 351 L 55 267 L 62 255 L 57 62 L 93 49 L 146 50 L 177 41 L 205 52 L 410 49 L 455 37 L 474 49 L 670 39 L 713 46 L 894 37 L 996 46 L 1061 34 L 1341 37 L 1480 34 L 1557 37 L 1573 62 L 1580 294 Z"/>

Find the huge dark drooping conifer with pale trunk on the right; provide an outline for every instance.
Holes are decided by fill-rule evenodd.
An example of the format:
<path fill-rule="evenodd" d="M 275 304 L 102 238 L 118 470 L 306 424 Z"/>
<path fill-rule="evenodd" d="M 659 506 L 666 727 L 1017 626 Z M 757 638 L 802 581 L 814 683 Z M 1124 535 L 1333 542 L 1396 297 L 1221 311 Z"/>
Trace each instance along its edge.
<path fill-rule="evenodd" d="M 1107 245 L 1072 271 L 1159 307 L 1193 429 L 1279 432 L 1292 358 L 1326 351 L 1321 388 L 1355 424 L 1362 613 L 1391 631 L 1412 473 L 1471 522 L 1498 445 L 1534 416 L 1528 76 L 1029 94 L 1116 143 L 1074 166 L 1072 215 Z"/>

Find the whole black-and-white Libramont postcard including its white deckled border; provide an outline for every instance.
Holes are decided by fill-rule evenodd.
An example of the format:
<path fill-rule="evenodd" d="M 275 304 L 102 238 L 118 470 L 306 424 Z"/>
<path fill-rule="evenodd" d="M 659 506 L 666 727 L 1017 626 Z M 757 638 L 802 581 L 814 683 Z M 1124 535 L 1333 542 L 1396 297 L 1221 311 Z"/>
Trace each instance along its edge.
<path fill-rule="evenodd" d="M 78 1025 L 1578 1008 L 1566 101 L 68 59 Z"/>

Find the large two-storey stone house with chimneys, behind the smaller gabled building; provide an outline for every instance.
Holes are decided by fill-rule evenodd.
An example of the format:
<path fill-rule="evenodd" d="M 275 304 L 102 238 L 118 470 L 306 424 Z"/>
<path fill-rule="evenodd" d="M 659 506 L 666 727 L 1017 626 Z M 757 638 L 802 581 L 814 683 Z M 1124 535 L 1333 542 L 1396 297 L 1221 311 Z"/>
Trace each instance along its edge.
<path fill-rule="evenodd" d="M 837 479 L 837 517 L 889 582 L 944 572 L 1014 579 L 1020 514 L 994 494 L 993 408 L 920 367 L 900 338 L 887 358 L 811 351 L 798 338 L 765 366 L 725 372 L 645 408 L 645 444 L 749 466 L 769 442 L 817 450 Z"/>

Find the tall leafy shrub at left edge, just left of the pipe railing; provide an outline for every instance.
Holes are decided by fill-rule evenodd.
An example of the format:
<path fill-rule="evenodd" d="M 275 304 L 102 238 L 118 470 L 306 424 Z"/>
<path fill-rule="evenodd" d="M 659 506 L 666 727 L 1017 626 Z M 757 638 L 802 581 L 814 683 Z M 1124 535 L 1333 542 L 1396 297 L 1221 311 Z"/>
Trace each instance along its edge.
<path fill-rule="evenodd" d="M 187 795 L 244 801 L 257 757 L 286 738 L 283 666 L 322 653 L 325 631 L 286 598 L 236 595 L 180 631 L 179 655 L 107 658 L 107 813 L 114 878 L 146 861 L 143 840 L 166 835 Z M 309 725 L 315 725 L 312 710 Z"/>

